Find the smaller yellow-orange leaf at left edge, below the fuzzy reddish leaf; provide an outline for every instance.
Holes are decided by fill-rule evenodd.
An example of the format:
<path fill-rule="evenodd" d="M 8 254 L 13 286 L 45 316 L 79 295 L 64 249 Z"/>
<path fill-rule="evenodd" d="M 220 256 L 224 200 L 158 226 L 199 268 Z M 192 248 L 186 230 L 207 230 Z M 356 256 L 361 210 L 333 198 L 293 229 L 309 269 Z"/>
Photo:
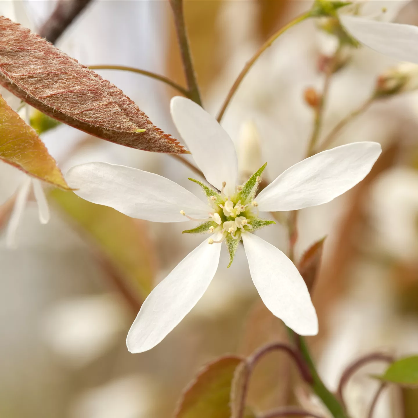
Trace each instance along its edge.
<path fill-rule="evenodd" d="M 43 181 L 69 189 L 37 133 L 0 96 L 0 158 Z"/>

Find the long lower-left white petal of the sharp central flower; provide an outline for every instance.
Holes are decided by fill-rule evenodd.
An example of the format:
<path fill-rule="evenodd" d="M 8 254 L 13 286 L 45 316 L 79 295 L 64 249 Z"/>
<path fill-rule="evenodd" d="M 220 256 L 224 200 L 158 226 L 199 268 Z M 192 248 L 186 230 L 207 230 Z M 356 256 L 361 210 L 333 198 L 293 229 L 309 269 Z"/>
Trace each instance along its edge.
<path fill-rule="evenodd" d="M 216 273 L 220 251 L 221 244 L 204 240 L 154 288 L 127 335 L 131 353 L 155 347 L 191 311 Z"/>

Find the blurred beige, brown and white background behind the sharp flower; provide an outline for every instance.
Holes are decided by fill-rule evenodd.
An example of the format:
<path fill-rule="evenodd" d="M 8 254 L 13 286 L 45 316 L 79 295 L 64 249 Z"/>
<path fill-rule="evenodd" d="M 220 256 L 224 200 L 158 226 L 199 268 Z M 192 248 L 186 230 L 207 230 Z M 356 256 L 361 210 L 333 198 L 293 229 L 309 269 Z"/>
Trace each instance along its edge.
<path fill-rule="evenodd" d="M 257 48 L 311 6 L 305 0 L 184 3 L 204 106 L 212 114 Z M 377 2 L 369 3 L 372 8 Z M 418 24 L 416 1 L 386 3 L 396 3 L 395 21 Z M 0 1 L 0 13 L 38 31 L 56 5 L 53 0 Z M 237 146 L 243 180 L 266 161 L 266 180 L 273 179 L 306 154 L 314 112 L 305 92 L 308 87 L 321 92 L 321 63 L 335 44 L 318 24 L 305 21 L 281 36 L 245 78 L 224 116 L 222 125 Z M 167 1 L 92 0 L 56 46 L 82 64 L 133 66 L 184 83 Z M 332 76 L 321 138 L 370 97 L 382 74 L 399 64 L 365 47 L 345 53 L 344 64 Z M 97 72 L 155 125 L 178 137 L 169 115 L 174 90 L 139 74 Z M 416 68 L 408 74 L 418 79 Z M 410 91 L 375 100 L 347 124 L 335 145 L 377 141 L 382 156 L 357 187 L 329 204 L 304 209 L 298 217 L 297 258 L 327 237 L 313 289 L 320 332 L 309 343 L 332 390 L 344 367 L 362 354 L 418 351 L 414 88 L 411 84 L 403 89 Z M 125 148 L 66 125 L 42 139 L 64 173 L 77 163 L 107 161 L 152 171 L 200 192 L 187 180 L 191 171 L 168 155 Z M 0 171 L 0 417 L 169 417 L 183 388 L 206 362 L 286 340 L 281 321 L 261 303 L 240 248 L 228 270 L 227 251 L 222 252 L 209 290 L 161 344 L 130 354 L 125 337 L 140 303 L 201 237 L 181 235 L 187 229 L 183 224 L 130 219 L 51 188 L 51 221 L 41 225 L 36 204 L 30 202 L 17 232 L 18 248 L 9 250 L 5 228 L 10 199 L 24 175 L 5 163 Z M 284 224 L 285 214 L 283 225 L 260 235 L 286 252 Z M 377 387 L 369 375 L 383 366 L 372 364 L 347 387 L 353 417 L 365 417 Z M 251 381 L 249 403 L 262 411 L 296 402 L 316 408 L 288 357 L 269 355 Z M 376 416 L 399 417 L 400 408 L 405 417 L 418 417 L 418 392 L 388 390 Z"/>

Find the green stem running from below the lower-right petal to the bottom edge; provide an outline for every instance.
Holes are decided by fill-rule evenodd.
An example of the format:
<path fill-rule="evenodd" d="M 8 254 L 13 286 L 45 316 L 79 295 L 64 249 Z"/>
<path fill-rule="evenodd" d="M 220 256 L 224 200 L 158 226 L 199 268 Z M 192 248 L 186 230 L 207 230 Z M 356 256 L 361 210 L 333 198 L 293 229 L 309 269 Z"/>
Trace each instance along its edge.
<path fill-rule="evenodd" d="M 313 379 L 311 387 L 316 395 L 322 400 L 334 418 L 348 418 L 348 415 L 344 411 L 343 406 L 339 403 L 337 398 L 326 388 L 321 378 L 319 377 L 314 361 L 312 360 L 311 354 L 309 353 L 308 346 L 306 345 L 305 339 L 302 336 L 294 333 L 290 328 L 288 328 L 288 331 L 291 335 L 291 338 L 293 338 L 293 340 L 296 342 L 296 345 L 298 346 L 303 359 L 306 361 L 306 364 L 309 367 Z"/>

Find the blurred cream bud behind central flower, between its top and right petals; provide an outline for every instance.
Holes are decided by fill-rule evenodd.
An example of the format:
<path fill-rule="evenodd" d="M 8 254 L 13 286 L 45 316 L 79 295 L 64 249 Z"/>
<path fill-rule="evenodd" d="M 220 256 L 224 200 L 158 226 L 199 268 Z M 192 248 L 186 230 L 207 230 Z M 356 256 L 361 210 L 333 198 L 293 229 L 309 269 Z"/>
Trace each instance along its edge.
<path fill-rule="evenodd" d="M 260 135 L 252 120 L 245 122 L 241 127 L 237 154 L 243 179 L 247 179 L 263 165 L 261 161 Z"/>

